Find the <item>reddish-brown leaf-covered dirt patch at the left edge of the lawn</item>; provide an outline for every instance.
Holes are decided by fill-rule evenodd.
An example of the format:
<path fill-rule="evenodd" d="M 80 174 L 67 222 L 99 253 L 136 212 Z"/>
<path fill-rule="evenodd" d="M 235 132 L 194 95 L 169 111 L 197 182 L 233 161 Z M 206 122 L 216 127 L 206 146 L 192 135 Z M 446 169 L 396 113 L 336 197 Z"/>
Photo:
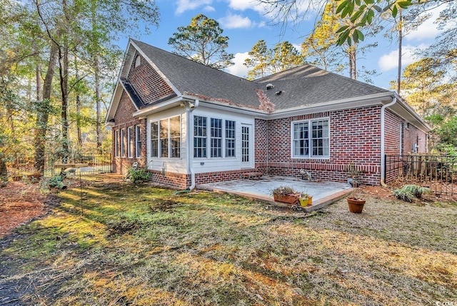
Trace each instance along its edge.
<path fill-rule="evenodd" d="M 39 184 L 10 182 L 0 188 L 0 238 L 11 233 L 13 228 L 44 215 L 46 195 Z"/>

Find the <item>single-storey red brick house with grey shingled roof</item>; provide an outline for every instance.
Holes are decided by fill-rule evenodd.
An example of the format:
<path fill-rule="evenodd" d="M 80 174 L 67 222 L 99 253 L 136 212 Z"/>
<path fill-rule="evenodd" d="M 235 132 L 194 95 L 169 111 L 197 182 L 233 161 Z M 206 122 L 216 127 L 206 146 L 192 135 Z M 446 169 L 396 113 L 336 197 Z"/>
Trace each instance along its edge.
<path fill-rule="evenodd" d="M 174 188 L 246 173 L 378 185 L 384 155 L 426 152 L 428 126 L 396 93 L 311 65 L 256 81 L 130 39 L 106 123 L 113 169 Z"/>

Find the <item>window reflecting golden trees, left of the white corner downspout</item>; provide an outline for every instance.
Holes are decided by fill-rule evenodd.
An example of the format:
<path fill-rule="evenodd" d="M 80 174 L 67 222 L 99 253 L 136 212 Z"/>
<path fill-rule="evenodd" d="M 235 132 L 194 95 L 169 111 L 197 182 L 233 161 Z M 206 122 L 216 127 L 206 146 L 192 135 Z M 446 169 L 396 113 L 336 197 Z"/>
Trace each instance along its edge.
<path fill-rule="evenodd" d="M 181 117 L 151 122 L 151 157 L 181 158 Z"/>

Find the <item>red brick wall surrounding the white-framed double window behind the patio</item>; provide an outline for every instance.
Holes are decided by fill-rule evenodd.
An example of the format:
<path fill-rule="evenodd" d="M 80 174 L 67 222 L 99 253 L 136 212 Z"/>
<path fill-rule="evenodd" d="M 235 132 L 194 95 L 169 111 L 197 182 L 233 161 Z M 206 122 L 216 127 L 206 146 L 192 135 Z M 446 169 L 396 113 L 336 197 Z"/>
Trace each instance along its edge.
<path fill-rule="evenodd" d="M 291 158 L 291 122 L 314 118 L 330 118 L 330 158 Z M 381 106 L 267 121 L 266 136 L 261 135 L 263 128 L 256 128 L 256 140 L 270 139 L 267 144 L 268 160 L 256 159 L 256 168 L 270 175 L 291 175 L 297 178 L 301 176 L 300 169 L 303 168 L 311 173 L 313 180 L 344 182 L 347 179 L 346 168 L 349 163 L 353 163 L 357 170 L 363 172 L 362 183 L 376 185 L 381 170 L 380 121 Z M 256 149 L 265 149 L 261 146 L 256 146 Z M 261 154 L 256 153 L 256 158 L 258 155 Z"/>

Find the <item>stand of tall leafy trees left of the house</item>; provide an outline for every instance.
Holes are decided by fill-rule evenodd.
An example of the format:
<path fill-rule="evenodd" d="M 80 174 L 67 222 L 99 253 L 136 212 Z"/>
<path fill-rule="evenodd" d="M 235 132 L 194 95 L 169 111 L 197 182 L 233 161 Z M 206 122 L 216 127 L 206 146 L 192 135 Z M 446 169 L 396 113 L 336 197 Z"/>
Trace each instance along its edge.
<path fill-rule="evenodd" d="M 81 150 L 84 133 L 101 150 L 108 135 L 101 129 L 106 111 L 102 106 L 106 108 L 112 71 L 121 59 L 121 51 L 111 41 L 128 36 L 132 29 L 149 31 L 158 26 L 155 2 L 0 0 L 0 7 L 1 76 L 6 71 L 19 79 L 6 88 L 19 101 L 29 97 L 24 111 L 35 123 L 34 148 L 23 150 L 35 151 L 36 170 L 43 171 L 46 151 L 68 155 L 70 150 Z M 139 21 L 144 21 L 143 28 Z M 19 88 L 22 83 L 35 83 L 36 93 L 26 95 Z M 4 92 L 2 103 L 8 97 Z M 4 104 L 0 109 L 5 109 Z"/>

